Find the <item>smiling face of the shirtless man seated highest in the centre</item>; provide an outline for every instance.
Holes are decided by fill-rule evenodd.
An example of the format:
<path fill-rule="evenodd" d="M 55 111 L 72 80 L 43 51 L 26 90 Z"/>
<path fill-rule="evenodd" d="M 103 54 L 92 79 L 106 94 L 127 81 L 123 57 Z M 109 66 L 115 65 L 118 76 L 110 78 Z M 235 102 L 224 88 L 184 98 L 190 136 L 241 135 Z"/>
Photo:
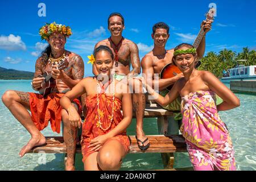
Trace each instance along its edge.
<path fill-rule="evenodd" d="M 112 16 L 109 18 L 109 31 L 112 36 L 122 35 L 125 25 L 122 23 L 122 18 L 120 16 Z"/>

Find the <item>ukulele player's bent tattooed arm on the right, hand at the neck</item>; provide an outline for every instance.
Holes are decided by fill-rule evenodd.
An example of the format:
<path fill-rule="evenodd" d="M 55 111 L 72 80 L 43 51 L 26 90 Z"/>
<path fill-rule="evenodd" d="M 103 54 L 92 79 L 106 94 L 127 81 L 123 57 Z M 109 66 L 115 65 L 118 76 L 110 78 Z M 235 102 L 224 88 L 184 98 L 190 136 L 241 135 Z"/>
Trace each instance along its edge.
<path fill-rule="evenodd" d="M 79 55 L 74 55 L 71 57 L 72 65 L 72 77 L 69 77 L 63 70 L 59 71 L 54 69 L 55 71 L 59 71 L 59 76 L 55 79 L 61 79 L 69 88 L 73 88 L 82 78 L 84 77 L 84 61 L 82 61 L 82 57 Z"/>

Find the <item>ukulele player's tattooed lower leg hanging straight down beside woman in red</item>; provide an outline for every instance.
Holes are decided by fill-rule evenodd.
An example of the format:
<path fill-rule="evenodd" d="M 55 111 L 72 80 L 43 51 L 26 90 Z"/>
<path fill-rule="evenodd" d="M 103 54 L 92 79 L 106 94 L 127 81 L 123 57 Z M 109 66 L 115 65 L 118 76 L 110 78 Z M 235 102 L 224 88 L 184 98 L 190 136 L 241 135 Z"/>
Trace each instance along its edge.
<path fill-rule="evenodd" d="M 75 104 L 73 104 L 75 105 Z M 77 106 L 75 105 L 76 109 Z M 78 110 L 78 109 L 77 109 Z M 75 170 L 75 155 L 76 155 L 76 136 L 77 128 L 73 127 L 68 120 L 68 113 L 66 110 L 61 111 L 61 117 L 64 123 L 63 138 L 67 146 L 67 162 L 65 163 L 65 170 Z"/>

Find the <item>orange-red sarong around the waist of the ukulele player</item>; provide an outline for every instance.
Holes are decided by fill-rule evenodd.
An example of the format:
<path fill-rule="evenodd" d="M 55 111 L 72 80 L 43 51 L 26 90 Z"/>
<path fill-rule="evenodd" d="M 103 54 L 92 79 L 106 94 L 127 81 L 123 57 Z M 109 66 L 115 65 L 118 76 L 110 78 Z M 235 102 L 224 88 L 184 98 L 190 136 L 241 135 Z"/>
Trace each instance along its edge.
<path fill-rule="evenodd" d="M 51 93 L 44 97 L 38 93 L 30 94 L 30 111 L 32 121 L 35 123 L 39 131 L 43 130 L 48 126 L 48 122 L 51 123 L 53 132 L 60 133 L 61 125 L 61 109 L 60 98 L 64 93 Z M 81 104 L 78 99 L 73 100 L 79 107 L 79 113 L 81 113 Z"/>

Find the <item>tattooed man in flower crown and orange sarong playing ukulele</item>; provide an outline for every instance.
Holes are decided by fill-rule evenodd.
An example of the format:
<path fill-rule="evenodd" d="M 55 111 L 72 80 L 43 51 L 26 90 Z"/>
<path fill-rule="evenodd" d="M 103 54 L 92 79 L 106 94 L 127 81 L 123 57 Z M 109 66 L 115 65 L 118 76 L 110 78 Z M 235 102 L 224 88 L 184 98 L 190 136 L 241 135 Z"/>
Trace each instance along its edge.
<path fill-rule="evenodd" d="M 64 93 L 71 90 L 84 77 L 84 62 L 79 55 L 64 48 L 67 37 L 72 34 L 70 27 L 54 22 L 43 26 L 39 34 L 42 39 L 47 40 L 49 46 L 36 60 L 35 75 L 31 85 L 35 91 L 42 89 L 45 78 L 40 77 L 40 75 L 48 72 L 56 80 L 56 86 L 47 96 L 7 90 L 2 96 L 2 101 L 31 135 L 31 139 L 19 152 L 20 157 L 24 156 L 31 148 L 46 143 L 46 138 L 40 131 L 47 127 L 49 121 L 52 131 L 60 133 L 62 119 L 64 122 L 64 141 L 67 145 L 68 154 L 65 169 L 71 170 L 74 169 L 77 126 L 71 125 L 68 113 L 62 109 L 59 100 Z M 60 61 L 63 60 L 68 62 L 68 68 L 65 71 L 58 69 Z M 81 110 L 79 100 L 73 100 L 73 105 L 78 111 Z M 28 110 L 31 111 L 31 115 Z"/>

